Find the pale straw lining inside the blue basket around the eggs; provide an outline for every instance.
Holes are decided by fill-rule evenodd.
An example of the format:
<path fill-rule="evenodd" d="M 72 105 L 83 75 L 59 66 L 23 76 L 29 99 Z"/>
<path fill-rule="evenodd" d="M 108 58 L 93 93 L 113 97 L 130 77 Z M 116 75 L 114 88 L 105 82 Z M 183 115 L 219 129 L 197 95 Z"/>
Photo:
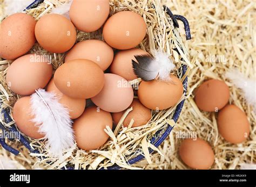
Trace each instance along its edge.
<path fill-rule="evenodd" d="M 37 8 L 28 10 L 26 13 L 38 20 L 46 13 L 50 13 L 53 7 L 65 2 L 66 1 L 56 0 L 44 1 L 44 3 L 40 4 Z M 151 54 L 156 50 L 169 54 L 173 59 L 173 62 L 176 64 L 174 74 L 179 77 L 181 81 L 183 81 L 186 75 L 181 77 L 182 72 L 180 67 L 185 64 L 188 69 L 190 69 L 193 67 L 193 63 L 196 61 L 196 59 L 194 58 L 192 61 L 190 60 L 190 56 L 183 43 L 185 37 L 181 37 L 179 31 L 174 29 L 172 20 L 166 15 L 160 1 L 111 0 L 110 6 L 110 15 L 123 10 L 134 11 L 142 15 L 147 24 L 147 35 L 146 38 L 140 43 L 139 48 L 142 48 Z M 77 31 L 77 42 L 86 39 L 102 40 L 102 31 L 99 30 L 93 33 Z M 174 49 L 178 49 L 180 54 L 178 54 L 178 52 L 176 52 Z M 64 62 L 65 53 L 51 54 L 46 52 L 38 44 L 35 44 L 30 52 L 51 55 L 54 69 L 57 69 Z M 11 61 L 7 60 L 0 61 L 0 97 L 3 100 L 1 108 L 3 109 L 8 107 L 12 111 L 12 107 L 19 96 L 11 92 L 5 83 L 6 70 L 8 69 L 10 63 Z M 136 80 L 133 80 L 131 84 L 137 84 L 140 81 L 141 80 L 137 78 Z M 180 98 L 177 105 L 184 98 L 185 95 Z M 67 150 L 64 153 L 64 156 L 60 159 L 54 159 L 50 156 L 44 140 L 34 140 L 28 138 L 31 142 L 31 147 L 39 150 L 39 153 L 37 154 L 28 153 L 28 150 L 26 150 L 24 146 L 21 146 L 17 140 L 9 143 L 12 147 L 16 147 L 21 151 L 21 154 L 17 156 L 16 160 L 18 159 L 21 162 L 27 162 L 32 165 L 28 166 L 28 164 L 25 164 L 28 166 L 28 168 L 33 168 L 35 167 L 35 164 L 39 163 L 41 164 L 41 167 L 48 169 L 60 169 L 70 166 L 75 167 L 75 169 L 100 169 L 113 166 L 113 164 L 117 164 L 118 166 L 126 169 L 138 169 L 127 164 L 127 161 L 134 156 L 142 154 L 145 156 L 148 163 L 152 163 L 149 148 L 155 150 L 158 152 L 158 154 L 161 154 L 160 150 L 150 143 L 150 139 L 153 137 L 158 138 L 164 133 L 168 125 L 174 125 L 174 121 L 171 120 L 171 118 L 176 106 L 157 113 L 152 111 L 152 119 L 150 122 L 140 127 L 131 127 L 133 121 L 131 121 L 129 127 L 123 127 L 123 120 L 132 110 L 132 108 L 127 109 L 114 131 L 112 131 L 110 128 L 105 129 L 105 132 L 110 135 L 110 139 L 105 143 L 104 146 L 98 150 L 91 150 L 90 152 L 85 152 L 77 147 L 72 147 Z M 4 121 L 2 122 L 6 127 L 15 125 L 14 122 L 9 124 L 4 123 Z M 158 133 L 156 134 L 156 132 Z"/>

